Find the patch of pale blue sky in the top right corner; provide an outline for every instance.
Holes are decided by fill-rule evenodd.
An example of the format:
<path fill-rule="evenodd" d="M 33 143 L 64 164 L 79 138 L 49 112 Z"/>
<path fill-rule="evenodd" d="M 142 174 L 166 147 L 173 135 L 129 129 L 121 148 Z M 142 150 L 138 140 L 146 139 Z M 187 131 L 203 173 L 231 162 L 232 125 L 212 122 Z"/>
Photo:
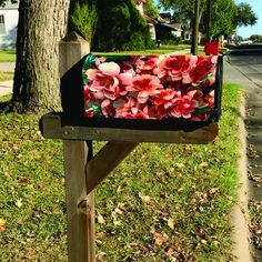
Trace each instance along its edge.
<path fill-rule="evenodd" d="M 249 38 L 252 34 L 262 36 L 262 0 L 234 0 L 235 3 L 246 2 L 249 3 L 254 13 L 258 16 L 258 22 L 253 27 L 240 27 L 236 30 L 238 36 Z"/>

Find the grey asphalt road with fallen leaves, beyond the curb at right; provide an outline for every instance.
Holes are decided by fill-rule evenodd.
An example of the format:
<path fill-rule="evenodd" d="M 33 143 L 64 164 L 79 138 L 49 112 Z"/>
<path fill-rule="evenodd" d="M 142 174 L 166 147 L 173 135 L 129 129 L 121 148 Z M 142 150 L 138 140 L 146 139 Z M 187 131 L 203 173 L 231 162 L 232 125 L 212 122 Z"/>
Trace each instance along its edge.
<path fill-rule="evenodd" d="M 249 196 L 250 204 L 255 203 L 258 208 L 262 205 L 262 44 L 238 47 L 231 52 L 229 60 L 245 77 L 241 78 L 239 83 L 248 93 L 245 127 L 248 131 Z M 254 231 L 261 231 L 261 224 L 255 225 L 252 232 Z M 256 233 L 255 235 L 255 241 L 261 243 L 262 234 Z M 253 255 L 255 262 L 262 261 L 262 250 L 254 249 Z"/>

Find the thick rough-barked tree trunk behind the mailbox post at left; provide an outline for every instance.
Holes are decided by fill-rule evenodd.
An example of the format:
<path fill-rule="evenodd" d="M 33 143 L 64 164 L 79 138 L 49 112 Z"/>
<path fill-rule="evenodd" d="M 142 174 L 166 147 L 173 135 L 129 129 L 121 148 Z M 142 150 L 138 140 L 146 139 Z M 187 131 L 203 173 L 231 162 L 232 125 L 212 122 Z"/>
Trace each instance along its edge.
<path fill-rule="evenodd" d="M 46 112 L 60 108 L 58 43 L 64 37 L 70 0 L 20 0 L 14 110 Z"/>

